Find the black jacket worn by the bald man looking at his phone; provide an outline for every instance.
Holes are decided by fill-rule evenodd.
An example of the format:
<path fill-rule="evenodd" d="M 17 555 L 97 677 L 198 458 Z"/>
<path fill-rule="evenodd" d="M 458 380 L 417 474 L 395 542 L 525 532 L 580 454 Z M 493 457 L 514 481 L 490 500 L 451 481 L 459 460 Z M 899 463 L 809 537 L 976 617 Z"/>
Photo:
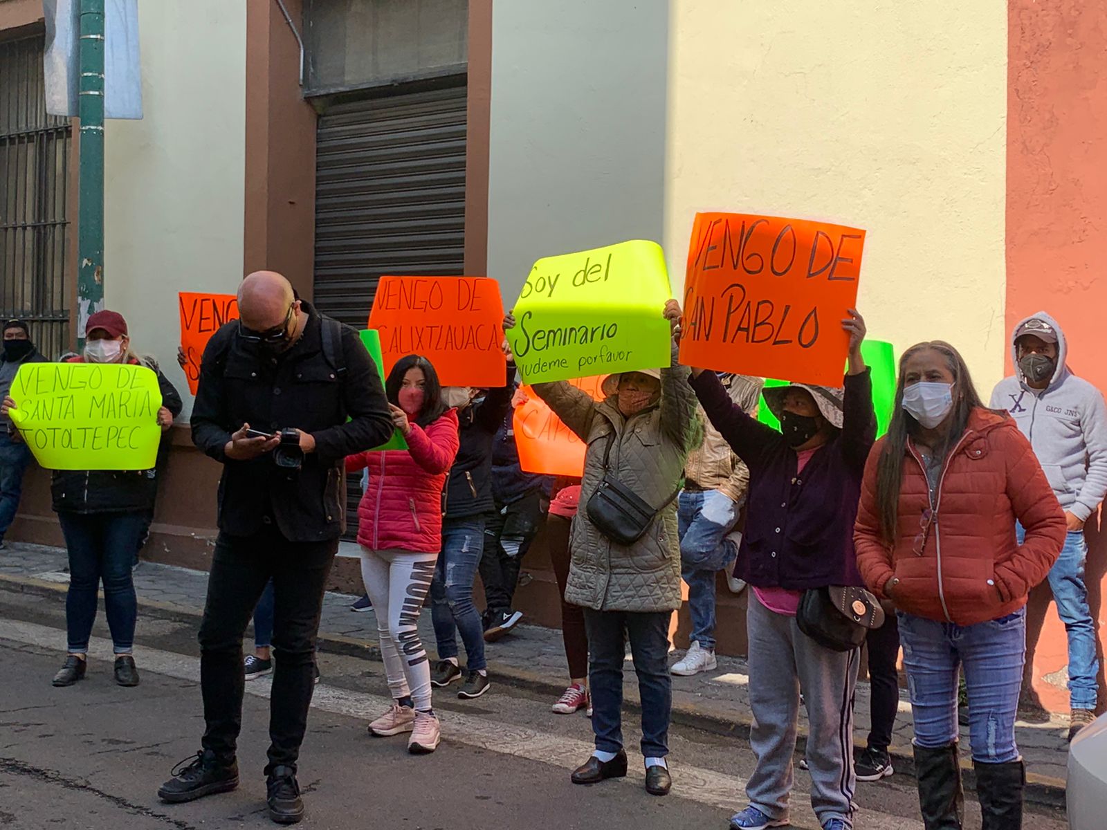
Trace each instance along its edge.
<path fill-rule="evenodd" d="M 219 529 L 232 536 L 252 536 L 276 521 L 290 541 L 337 539 L 345 528 L 345 457 L 392 435 L 381 376 L 358 332 L 307 302 L 302 308 L 309 315 L 302 336 L 277 357 L 238 338 L 237 321 L 219 329 L 204 350 L 193 442 L 224 465 Z M 330 350 L 324 324 L 333 335 Z M 244 423 L 265 432 L 311 433 L 315 452 L 298 471 L 277 467 L 271 455 L 229 459 L 224 447 Z"/>

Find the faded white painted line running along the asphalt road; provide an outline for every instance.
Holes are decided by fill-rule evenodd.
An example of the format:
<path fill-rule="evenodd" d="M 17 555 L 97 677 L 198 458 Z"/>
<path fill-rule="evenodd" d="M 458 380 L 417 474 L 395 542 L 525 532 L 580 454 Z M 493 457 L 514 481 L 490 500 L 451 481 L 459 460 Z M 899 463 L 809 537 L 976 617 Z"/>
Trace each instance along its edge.
<path fill-rule="evenodd" d="M 10 640 L 27 645 L 56 649 L 63 641 L 64 632 L 46 625 L 18 620 L 0 620 L 0 640 Z M 102 637 L 89 642 L 89 657 L 111 662 L 114 658 L 112 643 Z M 142 671 L 153 672 L 175 679 L 199 683 L 200 662 L 184 654 L 135 646 L 135 661 Z M 270 677 L 261 677 L 246 684 L 246 693 L 255 697 L 268 697 Z M 311 707 L 333 715 L 370 720 L 391 706 L 392 701 L 364 692 L 339 688 L 321 683 L 315 686 Z M 197 697 L 196 706 L 200 702 Z M 581 759 L 592 753 L 592 745 L 583 740 L 550 735 L 523 726 L 504 724 L 488 718 L 458 712 L 439 710 L 443 737 L 449 741 L 478 747 L 501 755 L 549 764 L 563 769 L 576 769 Z M 632 766 L 624 785 L 641 787 L 645 771 Z M 737 776 L 727 776 L 713 769 L 703 769 L 684 764 L 673 766 L 674 796 L 711 807 L 741 809 L 745 805 L 746 781 Z M 800 793 L 798 788 L 795 792 Z M 922 830 L 922 823 L 883 812 L 859 810 L 856 815 L 858 827 L 879 827 L 881 830 Z"/>

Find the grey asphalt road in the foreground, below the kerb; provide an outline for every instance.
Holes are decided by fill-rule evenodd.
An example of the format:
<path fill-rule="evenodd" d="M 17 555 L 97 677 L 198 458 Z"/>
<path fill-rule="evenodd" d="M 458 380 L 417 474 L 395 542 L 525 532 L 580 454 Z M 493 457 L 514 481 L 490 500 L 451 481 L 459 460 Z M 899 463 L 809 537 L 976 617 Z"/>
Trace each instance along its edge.
<path fill-rule="evenodd" d="M 247 684 L 239 789 L 163 805 L 157 786 L 197 750 L 203 730 L 195 625 L 139 621 L 137 688 L 112 682 L 102 626 L 101 620 L 86 679 L 55 689 L 50 677 L 65 640 L 62 603 L 0 591 L 0 828 L 272 827 L 262 778 L 268 682 Z M 735 738 L 674 729 L 668 798 L 644 792 L 634 753 L 624 781 L 575 787 L 569 770 L 590 746 L 583 716 L 554 715 L 550 701 L 504 686 L 465 703 L 436 694 L 443 745 L 431 756 L 411 756 L 405 738 L 374 739 L 365 732 L 368 718 L 386 704 L 381 664 L 322 654 L 320 666 L 323 683 L 300 759 L 304 827 L 723 830 L 745 805 L 753 755 Z M 637 747 L 638 734 L 627 732 L 628 746 Z M 805 787 L 806 774 L 797 769 L 795 827 L 815 830 Z M 856 826 L 921 830 L 917 798 L 913 780 L 903 776 L 859 785 Z M 969 812 L 968 827 L 979 827 L 972 805 Z M 1027 822 L 1035 830 L 1065 826 L 1059 812 L 1036 812 Z"/>

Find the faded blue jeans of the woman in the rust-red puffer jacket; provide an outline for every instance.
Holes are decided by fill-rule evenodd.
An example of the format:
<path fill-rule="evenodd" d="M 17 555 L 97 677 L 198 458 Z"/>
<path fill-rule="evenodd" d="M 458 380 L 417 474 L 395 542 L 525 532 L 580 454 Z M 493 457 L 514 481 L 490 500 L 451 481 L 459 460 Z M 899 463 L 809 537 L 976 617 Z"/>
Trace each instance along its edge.
<path fill-rule="evenodd" d="M 1026 657 L 1026 609 L 964 626 L 903 612 L 898 619 L 915 745 L 937 749 L 958 739 L 958 666 L 963 664 L 973 760 L 1017 760 L 1015 714 Z"/>

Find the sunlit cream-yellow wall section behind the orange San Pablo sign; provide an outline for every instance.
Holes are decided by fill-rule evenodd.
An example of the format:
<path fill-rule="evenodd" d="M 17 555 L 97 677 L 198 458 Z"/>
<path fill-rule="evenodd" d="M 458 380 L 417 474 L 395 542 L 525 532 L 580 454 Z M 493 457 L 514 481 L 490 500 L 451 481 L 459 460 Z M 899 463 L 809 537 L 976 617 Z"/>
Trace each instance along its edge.
<path fill-rule="evenodd" d="M 1001 0 L 673 3 L 664 247 L 697 210 L 867 229 L 860 308 L 897 350 L 944 339 L 985 398 L 1004 357 Z"/>

